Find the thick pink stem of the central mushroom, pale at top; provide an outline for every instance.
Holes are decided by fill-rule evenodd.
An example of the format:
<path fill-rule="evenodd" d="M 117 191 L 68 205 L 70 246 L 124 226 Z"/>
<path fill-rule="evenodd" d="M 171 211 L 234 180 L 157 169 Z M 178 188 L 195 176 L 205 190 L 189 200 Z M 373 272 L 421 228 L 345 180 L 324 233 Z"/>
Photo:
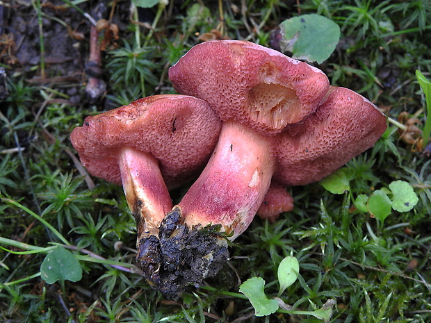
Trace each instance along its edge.
<path fill-rule="evenodd" d="M 208 165 L 179 203 L 189 227 L 221 224 L 231 240 L 253 220 L 275 168 L 273 137 L 225 122 Z"/>

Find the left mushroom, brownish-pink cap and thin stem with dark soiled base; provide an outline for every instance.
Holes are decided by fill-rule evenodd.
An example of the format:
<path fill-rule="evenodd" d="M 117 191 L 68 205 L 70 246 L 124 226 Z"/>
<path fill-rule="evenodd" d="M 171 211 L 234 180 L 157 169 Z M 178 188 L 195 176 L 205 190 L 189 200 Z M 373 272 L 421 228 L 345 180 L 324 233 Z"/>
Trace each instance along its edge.
<path fill-rule="evenodd" d="M 138 99 L 86 117 L 72 131 L 70 140 L 88 172 L 123 185 L 136 220 L 137 260 L 146 276 L 157 270 L 152 249 L 172 208 L 168 190 L 200 172 L 219 133 L 220 119 L 206 101 L 177 94 Z"/>

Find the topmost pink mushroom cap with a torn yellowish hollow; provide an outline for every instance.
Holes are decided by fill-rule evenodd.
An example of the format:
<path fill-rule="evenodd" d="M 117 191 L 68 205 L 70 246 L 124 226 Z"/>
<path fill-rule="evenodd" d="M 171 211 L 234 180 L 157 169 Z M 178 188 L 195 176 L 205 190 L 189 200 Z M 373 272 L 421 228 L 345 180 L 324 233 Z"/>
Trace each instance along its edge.
<path fill-rule="evenodd" d="M 169 78 L 178 92 L 208 101 L 222 121 L 262 133 L 313 113 L 329 89 L 320 69 L 241 40 L 197 44 L 170 67 Z"/>

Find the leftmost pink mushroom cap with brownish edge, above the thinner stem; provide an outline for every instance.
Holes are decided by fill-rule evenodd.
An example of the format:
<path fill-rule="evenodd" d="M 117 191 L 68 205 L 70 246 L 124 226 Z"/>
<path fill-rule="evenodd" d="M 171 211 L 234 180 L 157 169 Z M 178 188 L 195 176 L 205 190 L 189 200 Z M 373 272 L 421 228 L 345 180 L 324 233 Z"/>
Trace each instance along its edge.
<path fill-rule="evenodd" d="M 158 159 L 168 188 L 196 176 L 218 140 L 220 119 L 206 101 L 163 94 L 86 117 L 70 140 L 93 176 L 121 185 L 119 151 L 132 147 Z"/>

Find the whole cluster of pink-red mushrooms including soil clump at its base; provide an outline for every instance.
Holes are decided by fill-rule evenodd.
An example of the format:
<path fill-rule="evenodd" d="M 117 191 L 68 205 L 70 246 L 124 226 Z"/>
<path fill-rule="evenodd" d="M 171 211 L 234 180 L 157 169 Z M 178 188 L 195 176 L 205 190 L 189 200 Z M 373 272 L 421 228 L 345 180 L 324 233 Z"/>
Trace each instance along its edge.
<path fill-rule="evenodd" d="M 169 77 L 179 93 L 190 96 L 187 102 L 197 98 L 202 108 L 190 113 L 200 124 L 193 135 L 193 121 L 168 108 L 133 126 L 140 113 L 133 112 L 139 104 L 132 103 L 119 108 L 127 110 L 122 122 L 111 119 L 115 113 L 107 113 L 106 120 L 113 121 L 106 125 L 101 115 L 91 117 L 71 136 L 90 173 L 117 183 L 122 179 L 137 219 L 138 262 L 147 280 L 169 297 L 215 275 L 229 256 L 227 240 L 243 233 L 254 215 L 273 220 L 291 210 L 286 187 L 323 179 L 372 147 L 387 127 L 386 117 L 361 95 L 330 86 L 327 76 L 307 63 L 251 42 L 198 44 L 170 68 Z M 147 101 L 153 99 L 142 102 Z M 165 132 L 150 135 L 149 129 L 157 127 Z M 113 134 L 104 134 L 108 129 Z M 120 134 L 125 129 L 134 133 L 133 140 L 114 140 L 125 138 Z M 199 157 L 170 144 L 178 134 L 172 129 L 188 134 L 180 135 L 179 142 L 191 144 Z M 188 141 L 196 136 L 199 142 Z M 113 155 L 106 152 L 111 146 Z M 172 202 L 163 181 L 168 187 L 181 185 L 208 158 L 169 210 Z M 194 167 L 178 163 L 190 159 Z"/>

